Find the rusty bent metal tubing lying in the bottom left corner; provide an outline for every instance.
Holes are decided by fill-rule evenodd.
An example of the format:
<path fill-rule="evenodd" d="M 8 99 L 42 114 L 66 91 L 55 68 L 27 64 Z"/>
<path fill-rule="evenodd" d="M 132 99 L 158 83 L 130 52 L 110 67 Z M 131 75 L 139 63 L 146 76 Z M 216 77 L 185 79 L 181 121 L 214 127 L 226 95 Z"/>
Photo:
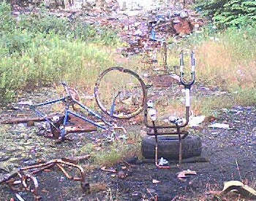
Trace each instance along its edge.
<path fill-rule="evenodd" d="M 69 168 L 73 167 L 78 169 L 80 171 L 80 176 L 75 177 L 75 176 L 69 175 L 67 170 L 64 168 L 65 166 Z M 12 189 L 13 192 L 22 192 L 22 191 L 31 192 L 32 194 L 34 194 L 35 201 L 41 200 L 41 197 L 39 196 L 39 190 L 38 190 L 39 183 L 35 175 L 37 175 L 38 173 L 41 173 L 45 169 L 50 169 L 53 167 L 59 167 L 62 173 L 64 173 L 64 176 L 66 176 L 68 179 L 71 179 L 74 181 L 80 181 L 80 185 L 83 192 L 89 192 L 89 183 L 86 182 L 85 172 L 83 170 L 83 167 L 81 167 L 80 165 L 76 165 L 72 162 L 65 162 L 62 159 L 53 159 L 48 162 L 39 163 L 37 165 L 20 167 L 17 172 L 8 174 L 7 176 L 5 176 L 0 181 L 0 185 L 7 184 L 8 186 L 10 186 L 10 189 Z M 29 173 L 26 173 L 26 171 L 28 171 Z M 33 187 L 31 187 L 31 184 Z M 19 200 L 23 199 L 17 193 L 15 195 Z"/>

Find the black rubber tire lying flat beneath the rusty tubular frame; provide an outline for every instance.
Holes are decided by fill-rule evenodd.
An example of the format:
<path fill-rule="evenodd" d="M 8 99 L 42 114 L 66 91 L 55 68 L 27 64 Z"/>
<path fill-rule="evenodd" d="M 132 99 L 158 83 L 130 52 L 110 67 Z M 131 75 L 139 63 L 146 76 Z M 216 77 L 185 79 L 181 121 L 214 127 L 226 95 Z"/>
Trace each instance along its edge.
<path fill-rule="evenodd" d="M 178 138 L 176 135 L 159 135 L 157 157 L 178 159 Z M 146 136 L 141 142 L 141 151 L 146 159 L 154 159 L 156 141 L 154 136 Z M 199 136 L 187 136 L 181 140 L 182 158 L 198 157 L 202 152 L 202 143 Z"/>

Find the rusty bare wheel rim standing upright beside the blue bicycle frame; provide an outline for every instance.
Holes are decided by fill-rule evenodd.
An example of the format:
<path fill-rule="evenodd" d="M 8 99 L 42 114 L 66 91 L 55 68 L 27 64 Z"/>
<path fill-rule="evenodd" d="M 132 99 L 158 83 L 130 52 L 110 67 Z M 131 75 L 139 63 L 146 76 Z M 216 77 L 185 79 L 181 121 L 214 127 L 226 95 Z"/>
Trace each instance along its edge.
<path fill-rule="evenodd" d="M 102 78 L 106 74 L 110 73 L 110 71 L 119 71 L 123 74 L 130 74 L 133 77 L 135 77 L 138 80 L 138 82 L 140 83 L 143 98 L 142 98 L 142 101 L 140 103 L 140 106 L 138 107 L 138 109 L 136 111 L 133 111 L 132 113 L 129 113 L 129 114 L 120 113 L 120 114 L 112 114 L 111 115 L 110 111 L 108 111 L 108 109 L 106 109 L 104 104 L 100 101 L 100 98 L 99 98 L 99 84 L 102 81 Z M 112 68 L 108 68 L 105 71 L 103 71 L 102 74 L 99 74 L 97 82 L 95 83 L 95 87 L 94 87 L 94 95 L 95 95 L 95 100 L 96 100 L 97 105 L 99 106 L 99 108 L 105 114 L 108 114 L 110 117 L 114 117 L 116 119 L 130 119 L 132 117 L 137 116 L 138 114 L 140 114 L 140 112 L 143 111 L 143 106 L 144 106 L 144 103 L 146 102 L 146 84 L 143 82 L 143 80 L 140 78 L 140 76 L 138 74 L 136 74 L 134 71 L 131 71 L 127 68 L 122 68 L 122 67 L 112 67 Z"/>

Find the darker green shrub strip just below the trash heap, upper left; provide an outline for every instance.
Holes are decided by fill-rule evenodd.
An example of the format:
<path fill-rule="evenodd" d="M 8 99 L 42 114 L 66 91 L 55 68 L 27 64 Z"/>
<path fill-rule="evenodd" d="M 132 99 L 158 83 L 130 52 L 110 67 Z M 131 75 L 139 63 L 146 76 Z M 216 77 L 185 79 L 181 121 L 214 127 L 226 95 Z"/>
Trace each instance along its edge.
<path fill-rule="evenodd" d="M 95 28 L 80 19 L 69 22 L 67 18 L 56 17 L 55 15 L 50 15 L 48 12 L 23 15 L 18 22 L 18 28 L 29 30 L 35 35 L 38 33 L 56 33 L 72 39 L 101 42 L 107 45 L 117 44 L 118 42 L 116 32 L 114 31 L 102 27 Z"/>

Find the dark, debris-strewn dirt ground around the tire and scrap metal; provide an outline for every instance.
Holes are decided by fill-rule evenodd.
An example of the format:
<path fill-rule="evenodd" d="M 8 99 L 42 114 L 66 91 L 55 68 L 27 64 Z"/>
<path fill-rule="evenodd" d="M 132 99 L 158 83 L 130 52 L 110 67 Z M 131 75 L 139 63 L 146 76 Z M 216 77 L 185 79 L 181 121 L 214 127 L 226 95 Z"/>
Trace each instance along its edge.
<path fill-rule="evenodd" d="M 166 89 L 165 89 L 166 90 Z M 37 101 L 45 101 L 54 96 L 54 90 L 39 90 L 33 94 Z M 210 95 L 200 87 L 195 87 L 194 95 Z M 28 99 L 25 95 L 20 100 Z M 48 108 L 49 109 L 49 108 Z M 30 111 L 19 111 L 12 106 L 1 109 L 1 120 L 17 117 L 18 114 L 31 116 Z M 117 171 L 124 169 L 125 178 L 108 173 L 95 167 L 87 170 L 86 179 L 92 186 L 90 194 L 83 194 L 78 181 L 69 181 L 60 171 L 43 172 L 37 176 L 42 200 L 213 200 L 207 192 L 222 190 L 224 181 L 244 181 L 255 187 L 256 174 L 256 109 L 235 106 L 232 109 L 216 111 L 214 122 L 225 122 L 230 129 L 208 127 L 214 122 L 203 122 L 199 127 L 189 129 L 190 135 L 200 135 L 202 140 L 202 157 L 208 162 L 187 163 L 177 166 L 173 163 L 170 170 L 160 170 L 152 163 L 143 163 L 138 159 L 135 164 L 118 163 L 113 166 Z M 136 125 L 138 127 L 138 125 Z M 140 125 L 143 127 L 143 125 Z M 61 144 L 37 135 L 36 127 L 26 125 L 0 125 L 0 174 L 3 176 L 17 167 L 23 167 L 38 159 L 46 160 L 72 157 L 78 154 L 79 146 L 102 138 L 104 133 L 80 133 L 74 135 L 73 141 Z M 136 128 L 138 130 L 138 128 Z M 181 170 L 195 170 L 196 175 L 180 181 L 177 173 Z M 152 181 L 159 183 L 154 184 Z M 33 195 L 20 193 L 25 200 L 33 200 Z M 1 185 L 0 200 L 10 200 L 15 194 L 7 185 Z M 230 198 L 230 200 L 233 200 Z"/>

